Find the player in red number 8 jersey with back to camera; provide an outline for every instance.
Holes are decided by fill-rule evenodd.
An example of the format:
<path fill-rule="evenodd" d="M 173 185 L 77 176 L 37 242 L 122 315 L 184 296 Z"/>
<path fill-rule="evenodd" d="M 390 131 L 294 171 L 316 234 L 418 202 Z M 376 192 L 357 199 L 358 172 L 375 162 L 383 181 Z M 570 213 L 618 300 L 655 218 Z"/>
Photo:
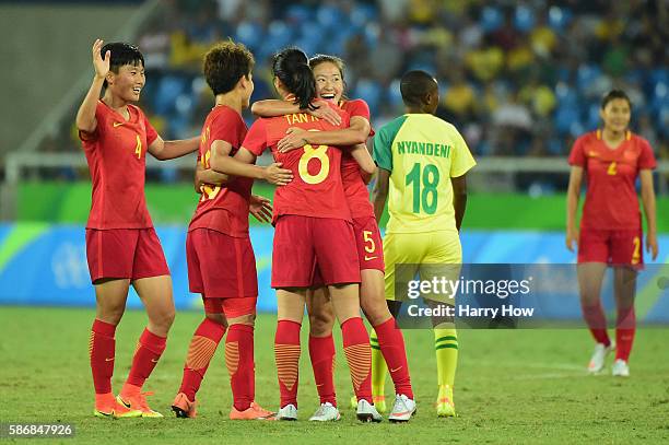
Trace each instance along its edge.
<path fill-rule="evenodd" d="M 312 107 L 316 95 L 314 75 L 306 55 L 289 48 L 273 60 L 274 86 L 301 109 Z M 343 112 L 342 112 L 343 113 Z M 348 126 L 349 115 L 342 115 Z M 341 324 L 344 351 L 359 399 L 357 418 L 380 421 L 372 403 L 368 336 L 360 318 L 360 268 L 351 213 L 341 180 L 341 151 L 320 144 L 280 153 L 279 140 L 295 126 L 312 131 L 337 127 L 307 113 L 260 118 L 251 126 L 234 160 L 212 159 L 213 169 L 231 175 L 253 175 L 250 163 L 268 147 L 277 161 L 293 172 L 294 179 L 274 195 L 274 247 L 272 288 L 277 289 L 278 327 L 274 352 L 281 391 L 280 420 L 297 418 L 300 329 L 308 288 L 316 269 L 328 285 L 334 314 Z M 331 363 L 330 363 L 331 365 Z"/>

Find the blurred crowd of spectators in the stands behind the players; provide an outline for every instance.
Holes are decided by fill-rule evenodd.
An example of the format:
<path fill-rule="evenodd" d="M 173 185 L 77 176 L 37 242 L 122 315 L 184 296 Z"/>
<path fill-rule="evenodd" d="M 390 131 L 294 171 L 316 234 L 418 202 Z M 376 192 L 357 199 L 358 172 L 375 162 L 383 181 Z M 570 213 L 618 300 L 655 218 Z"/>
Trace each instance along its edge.
<path fill-rule="evenodd" d="M 163 138 L 199 133 L 212 106 L 201 60 L 231 37 L 256 57 L 251 101 L 273 97 L 269 60 L 296 45 L 344 59 L 348 95 L 369 104 L 375 127 L 402 113 L 401 74 L 423 69 L 439 82 L 438 115 L 476 155 L 565 156 L 575 137 L 598 127 L 601 96 L 622 87 L 632 129 L 669 157 L 666 1 L 488 3 L 164 0 L 137 39 L 146 60 L 141 105 Z M 45 149 L 79 145 L 74 131 L 64 133 L 68 143 Z"/>

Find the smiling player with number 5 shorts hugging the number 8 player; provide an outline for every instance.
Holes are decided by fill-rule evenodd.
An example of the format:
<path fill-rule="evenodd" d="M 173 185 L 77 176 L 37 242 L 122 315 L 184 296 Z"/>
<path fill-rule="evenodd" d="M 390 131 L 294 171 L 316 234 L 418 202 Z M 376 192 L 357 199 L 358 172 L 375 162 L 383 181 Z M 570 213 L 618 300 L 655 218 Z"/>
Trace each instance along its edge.
<path fill-rule="evenodd" d="M 343 99 L 344 93 L 344 63 L 333 56 L 318 55 L 309 60 L 309 66 L 316 79 L 316 90 L 320 98 L 339 104 L 351 115 L 351 125 L 348 129 L 308 132 L 298 128 L 289 129 L 289 136 L 279 142 L 279 150 L 287 152 L 303 147 L 305 143 L 327 143 L 348 145 L 362 143 L 362 153 L 367 154 L 364 141 L 367 134 L 373 134 L 369 126 L 369 108 L 362 99 Z M 297 113 L 297 106 L 283 101 L 262 101 L 254 104 L 253 109 L 265 116 L 277 114 Z M 384 365 L 389 363 L 391 376 L 396 386 L 396 400 L 390 413 L 391 421 L 408 421 L 415 411 L 413 390 L 407 364 L 404 340 L 402 333 L 395 326 L 395 318 L 388 311 L 385 297 L 384 255 L 378 224 L 374 218 L 374 208 L 369 202 L 369 192 L 365 186 L 368 174 L 375 169 L 374 161 L 368 156 L 366 162 L 359 163 L 344 153 L 342 157 L 342 180 L 347 201 L 353 218 L 353 229 L 357 244 L 357 257 L 361 269 L 361 304 L 365 316 L 374 327 L 372 332 L 373 354 Z M 363 168 L 361 171 L 361 167 Z M 317 283 L 313 283 L 317 284 Z M 316 387 L 320 396 L 320 408 L 310 418 L 314 421 L 328 421 L 339 419 L 332 361 L 334 360 L 334 343 L 332 341 L 332 325 L 334 316 L 329 302 L 327 288 L 309 291 L 307 294 L 307 308 L 309 314 L 309 354 Z M 383 354 L 383 356 L 380 356 Z M 385 361 L 384 361 L 385 359 Z M 384 380 L 385 368 L 379 375 L 374 374 L 372 388 L 375 406 L 385 410 Z"/>

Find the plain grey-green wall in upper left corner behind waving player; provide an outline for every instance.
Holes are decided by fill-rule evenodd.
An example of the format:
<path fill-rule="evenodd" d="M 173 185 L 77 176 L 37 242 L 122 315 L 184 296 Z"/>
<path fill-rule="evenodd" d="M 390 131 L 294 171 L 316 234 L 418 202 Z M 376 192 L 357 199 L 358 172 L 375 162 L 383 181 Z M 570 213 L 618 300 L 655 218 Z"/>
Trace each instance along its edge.
<path fill-rule="evenodd" d="M 139 1 L 44 3 L 0 4 L 2 65 L 11 67 L 0 70 L 0 96 L 11 104 L 0 119 L 12 122 L 0 127 L 0 160 L 35 131 L 81 75 L 90 72 L 92 79 L 85 57 L 91 45 L 96 37 L 117 37 Z"/>

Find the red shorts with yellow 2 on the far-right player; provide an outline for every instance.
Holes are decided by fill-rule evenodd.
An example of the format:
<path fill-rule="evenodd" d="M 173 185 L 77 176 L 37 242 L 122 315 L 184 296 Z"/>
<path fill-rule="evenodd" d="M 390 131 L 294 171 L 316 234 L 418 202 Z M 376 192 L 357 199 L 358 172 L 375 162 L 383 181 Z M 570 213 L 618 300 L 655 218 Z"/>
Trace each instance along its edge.
<path fill-rule="evenodd" d="M 642 267 L 644 265 L 643 233 L 641 230 L 584 229 L 578 239 L 578 262 Z"/>

